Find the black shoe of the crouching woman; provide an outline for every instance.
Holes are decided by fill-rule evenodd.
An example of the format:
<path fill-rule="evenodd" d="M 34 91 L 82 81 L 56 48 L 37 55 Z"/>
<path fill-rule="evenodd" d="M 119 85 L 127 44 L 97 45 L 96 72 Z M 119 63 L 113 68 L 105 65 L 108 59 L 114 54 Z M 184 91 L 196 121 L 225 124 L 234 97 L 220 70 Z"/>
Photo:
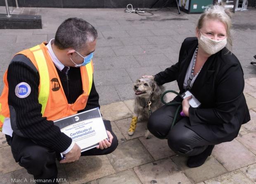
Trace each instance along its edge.
<path fill-rule="evenodd" d="M 206 158 L 211 155 L 211 151 L 213 150 L 214 145 L 209 145 L 203 152 L 199 155 L 190 156 L 187 160 L 187 166 L 189 168 L 197 168 L 204 164 Z"/>

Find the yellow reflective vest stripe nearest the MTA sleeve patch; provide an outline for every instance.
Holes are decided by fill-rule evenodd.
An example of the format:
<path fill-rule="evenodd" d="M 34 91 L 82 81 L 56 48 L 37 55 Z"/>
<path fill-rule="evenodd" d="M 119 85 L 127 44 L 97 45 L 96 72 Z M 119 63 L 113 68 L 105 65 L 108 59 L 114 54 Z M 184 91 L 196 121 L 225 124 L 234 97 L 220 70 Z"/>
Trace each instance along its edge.
<path fill-rule="evenodd" d="M 40 76 L 40 91 L 38 95 L 38 101 L 42 105 L 41 113 L 44 114 L 45 107 L 48 101 L 49 93 L 50 93 L 50 79 L 49 72 L 47 68 L 47 63 L 45 60 L 45 56 L 43 54 L 42 49 L 39 45 L 32 47 L 30 49 L 35 56 L 36 63 L 38 65 L 38 72 Z"/>

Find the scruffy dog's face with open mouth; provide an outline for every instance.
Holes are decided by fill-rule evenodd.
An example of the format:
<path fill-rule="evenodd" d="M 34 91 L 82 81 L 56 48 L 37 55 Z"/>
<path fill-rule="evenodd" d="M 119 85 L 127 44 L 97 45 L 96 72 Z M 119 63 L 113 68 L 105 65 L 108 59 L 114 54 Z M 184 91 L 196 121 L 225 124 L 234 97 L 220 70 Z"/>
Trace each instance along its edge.
<path fill-rule="evenodd" d="M 156 82 L 154 82 L 153 77 L 146 78 L 142 77 L 136 80 L 136 83 L 133 86 L 133 90 L 135 91 L 135 95 L 141 98 L 149 98 L 156 92 L 156 88 L 158 88 Z"/>

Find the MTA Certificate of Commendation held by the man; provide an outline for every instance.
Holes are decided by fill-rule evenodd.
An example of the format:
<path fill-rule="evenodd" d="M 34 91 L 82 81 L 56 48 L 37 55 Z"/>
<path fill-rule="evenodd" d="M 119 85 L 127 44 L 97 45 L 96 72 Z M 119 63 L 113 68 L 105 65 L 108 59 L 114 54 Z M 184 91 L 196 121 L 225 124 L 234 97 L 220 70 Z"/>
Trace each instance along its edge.
<path fill-rule="evenodd" d="M 81 152 L 92 149 L 99 145 L 100 141 L 108 139 L 99 108 L 56 120 L 54 124 L 78 144 Z"/>

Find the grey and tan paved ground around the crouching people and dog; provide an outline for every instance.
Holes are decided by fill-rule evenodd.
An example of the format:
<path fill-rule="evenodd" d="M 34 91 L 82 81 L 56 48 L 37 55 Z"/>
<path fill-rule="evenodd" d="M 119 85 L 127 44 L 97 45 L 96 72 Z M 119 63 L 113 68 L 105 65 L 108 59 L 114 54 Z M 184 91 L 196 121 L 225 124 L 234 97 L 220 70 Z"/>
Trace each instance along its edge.
<path fill-rule="evenodd" d="M 187 168 L 187 158 L 177 156 L 166 140 L 143 135 L 146 123 L 138 123 L 135 134 L 127 134 L 133 112 L 135 79 L 153 75 L 178 61 L 185 37 L 194 36 L 198 14 L 177 14 L 162 9 L 154 16 L 124 13 L 123 9 L 10 8 L 13 14 L 42 15 L 42 30 L 0 30 L 0 77 L 12 55 L 49 41 L 59 24 L 69 17 L 92 23 L 99 39 L 95 51 L 95 85 L 100 94 L 101 112 L 111 120 L 119 147 L 107 156 L 88 156 L 78 162 L 58 164 L 59 178 L 70 184 L 256 184 L 256 9 L 234 15 L 233 53 L 239 58 L 245 77 L 244 94 L 251 121 L 242 126 L 232 142 L 217 145 L 206 163 Z M 5 7 L 0 7 L 5 13 Z M 2 80 L 0 81 L 2 90 Z M 172 82 L 166 89 L 178 90 Z M 173 98 L 172 96 L 169 97 Z M 24 183 L 33 177 L 12 158 L 10 147 L 0 134 L 0 183 Z M 20 180 L 19 180 L 20 179 Z"/>

